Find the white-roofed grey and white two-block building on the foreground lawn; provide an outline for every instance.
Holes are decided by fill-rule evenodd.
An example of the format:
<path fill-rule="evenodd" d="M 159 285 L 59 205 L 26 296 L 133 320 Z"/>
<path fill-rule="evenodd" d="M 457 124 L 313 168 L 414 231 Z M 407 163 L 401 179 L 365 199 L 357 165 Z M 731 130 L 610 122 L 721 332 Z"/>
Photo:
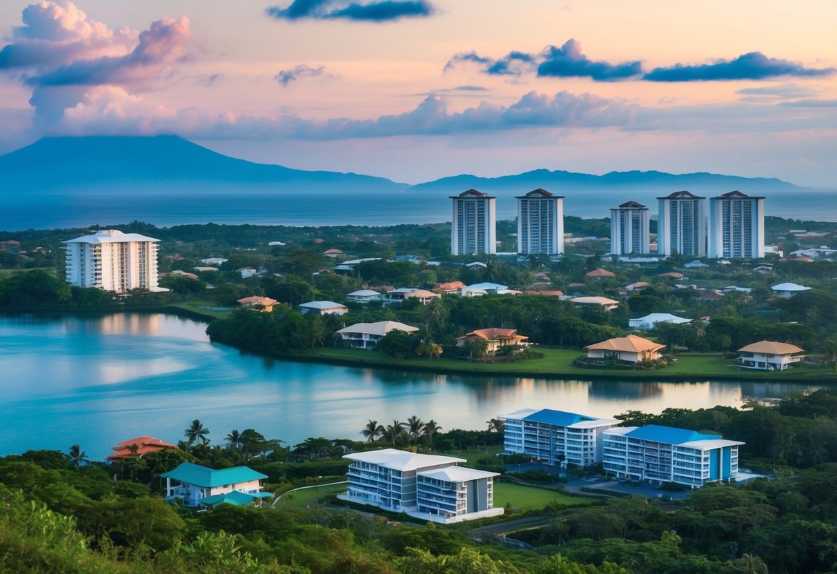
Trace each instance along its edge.
<path fill-rule="evenodd" d="M 497 473 L 457 466 L 465 459 L 395 448 L 345 454 L 349 486 L 337 498 L 434 522 L 503 514 L 494 508 Z"/>

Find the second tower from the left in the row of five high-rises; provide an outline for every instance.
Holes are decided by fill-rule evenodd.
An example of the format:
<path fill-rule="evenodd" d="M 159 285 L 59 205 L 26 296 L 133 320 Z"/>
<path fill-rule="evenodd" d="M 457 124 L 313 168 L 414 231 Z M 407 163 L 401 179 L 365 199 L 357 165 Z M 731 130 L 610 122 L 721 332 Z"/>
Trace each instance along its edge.
<path fill-rule="evenodd" d="M 564 197 L 536 189 L 517 196 L 517 253 L 564 252 Z"/>

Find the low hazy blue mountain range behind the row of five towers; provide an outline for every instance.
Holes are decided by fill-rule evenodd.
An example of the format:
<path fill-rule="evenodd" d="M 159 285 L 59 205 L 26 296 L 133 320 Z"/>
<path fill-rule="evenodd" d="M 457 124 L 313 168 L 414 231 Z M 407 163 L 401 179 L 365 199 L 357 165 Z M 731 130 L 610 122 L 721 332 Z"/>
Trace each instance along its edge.
<path fill-rule="evenodd" d="M 516 176 L 477 177 L 460 175 L 443 177 L 434 182 L 420 183 L 410 187 L 417 192 L 460 192 L 474 187 L 480 192 L 523 194 L 532 189 L 542 187 L 556 195 L 585 191 L 628 191 L 641 190 L 643 192 L 665 193 L 677 192 L 683 189 L 696 193 L 711 193 L 719 195 L 737 189 L 748 194 L 762 192 L 788 192 L 800 190 L 793 183 L 766 177 L 737 177 L 724 176 L 716 173 L 684 173 L 673 174 L 665 172 L 609 172 L 603 176 L 593 176 L 588 173 L 574 173 L 538 169 L 532 172 L 520 173 Z"/>

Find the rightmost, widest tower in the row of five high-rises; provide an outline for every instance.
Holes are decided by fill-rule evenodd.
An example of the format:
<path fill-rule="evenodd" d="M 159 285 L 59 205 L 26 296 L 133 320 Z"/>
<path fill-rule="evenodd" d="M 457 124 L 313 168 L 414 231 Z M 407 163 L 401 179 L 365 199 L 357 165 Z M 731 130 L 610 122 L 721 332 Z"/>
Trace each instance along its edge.
<path fill-rule="evenodd" d="M 709 199 L 708 257 L 764 257 L 764 197 L 729 192 Z"/>

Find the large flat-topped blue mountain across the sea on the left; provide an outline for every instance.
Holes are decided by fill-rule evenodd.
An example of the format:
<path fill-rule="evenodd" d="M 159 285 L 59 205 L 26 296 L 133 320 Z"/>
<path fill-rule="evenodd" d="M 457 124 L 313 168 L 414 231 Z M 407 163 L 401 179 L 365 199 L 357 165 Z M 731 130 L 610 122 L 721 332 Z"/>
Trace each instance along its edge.
<path fill-rule="evenodd" d="M 72 189 L 234 192 L 402 191 L 407 184 L 355 173 L 306 172 L 235 159 L 177 136 L 47 137 L 0 156 L 0 193 Z"/>

